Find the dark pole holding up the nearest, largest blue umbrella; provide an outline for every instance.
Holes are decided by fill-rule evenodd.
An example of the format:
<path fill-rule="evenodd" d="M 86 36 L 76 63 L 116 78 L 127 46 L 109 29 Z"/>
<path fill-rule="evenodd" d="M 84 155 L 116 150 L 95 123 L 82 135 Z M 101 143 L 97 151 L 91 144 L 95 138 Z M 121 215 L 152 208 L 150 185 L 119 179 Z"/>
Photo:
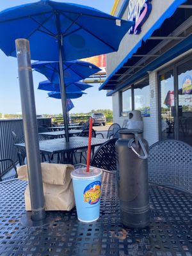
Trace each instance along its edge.
<path fill-rule="evenodd" d="M 63 109 L 63 122 L 65 126 L 65 140 L 68 142 L 68 117 L 67 117 L 67 97 L 66 97 L 66 87 L 64 82 L 64 75 L 63 75 L 63 52 L 62 52 L 62 45 L 61 40 L 58 40 L 59 46 L 59 60 L 60 60 L 60 91 L 61 91 L 61 102 L 62 102 L 62 109 Z"/>

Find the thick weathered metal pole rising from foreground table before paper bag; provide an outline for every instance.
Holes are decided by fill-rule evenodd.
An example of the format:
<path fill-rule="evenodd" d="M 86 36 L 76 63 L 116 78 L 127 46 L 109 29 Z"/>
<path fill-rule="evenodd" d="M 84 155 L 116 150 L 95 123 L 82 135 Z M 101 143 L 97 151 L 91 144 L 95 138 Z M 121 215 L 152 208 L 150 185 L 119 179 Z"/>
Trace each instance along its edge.
<path fill-rule="evenodd" d="M 45 219 L 45 206 L 29 41 L 26 39 L 17 39 L 15 40 L 15 45 L 28 161 L 28 177 L 32 210 L 31 220 L 41 221 Z"/>

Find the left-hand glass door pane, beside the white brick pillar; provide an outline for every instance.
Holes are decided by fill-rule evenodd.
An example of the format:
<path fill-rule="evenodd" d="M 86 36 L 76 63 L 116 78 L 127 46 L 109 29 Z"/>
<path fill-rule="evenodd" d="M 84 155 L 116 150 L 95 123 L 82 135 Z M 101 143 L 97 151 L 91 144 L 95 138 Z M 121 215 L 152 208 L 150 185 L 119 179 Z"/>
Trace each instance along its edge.
<path fill-rule="evenodd" d="M 159 134 L 161 140 L 175 138 L 175 90 L 173 69 L 159 73 Z"/>

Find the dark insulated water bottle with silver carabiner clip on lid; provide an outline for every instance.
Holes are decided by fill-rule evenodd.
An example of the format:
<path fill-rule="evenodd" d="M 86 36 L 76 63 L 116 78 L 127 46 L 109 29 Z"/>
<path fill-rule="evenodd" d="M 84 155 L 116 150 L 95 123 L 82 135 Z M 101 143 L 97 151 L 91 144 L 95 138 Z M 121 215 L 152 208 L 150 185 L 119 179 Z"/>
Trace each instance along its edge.
<path fill-rule="evenodd" d="M 148 197 L 148 143 L 140 129 L 120 131 L 116 141 L 118 154 L 118 197 L 122 223 L 144 228 L 150 221 Z"/>

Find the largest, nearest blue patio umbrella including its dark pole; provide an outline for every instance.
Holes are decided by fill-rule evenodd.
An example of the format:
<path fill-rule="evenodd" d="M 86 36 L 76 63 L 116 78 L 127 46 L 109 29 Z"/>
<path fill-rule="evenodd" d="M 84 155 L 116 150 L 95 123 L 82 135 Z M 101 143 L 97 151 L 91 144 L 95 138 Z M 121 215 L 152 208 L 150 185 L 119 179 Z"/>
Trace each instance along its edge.
<path fill-rule="evenodd" d="M 69 141 L 63 61 L 117 51 L 133 24 L 86 6 L 42 0 L 0 12 L 0 48 L 6 55 L 16 56 L 15 39 L 26 38 L 33 60 L 60 62 L 61 101 Z"/>

